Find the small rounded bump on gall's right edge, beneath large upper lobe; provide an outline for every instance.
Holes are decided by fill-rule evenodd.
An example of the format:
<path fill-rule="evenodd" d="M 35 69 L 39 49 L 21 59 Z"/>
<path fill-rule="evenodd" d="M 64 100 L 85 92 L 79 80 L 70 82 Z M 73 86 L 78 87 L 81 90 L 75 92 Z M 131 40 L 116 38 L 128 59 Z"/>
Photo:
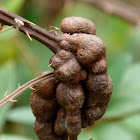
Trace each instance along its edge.
<path fill-rule="evenodd" d="M 88 70 L 91 73 L 100 74 L 100 73 L 104 73 L 107 71 L 107 66 L 108 66 L 107 58 L 106 58 L 106 56 L 104 56 L 101 59 L 99 59 L 98 61 L 90 64 L 88 66 Z"/>

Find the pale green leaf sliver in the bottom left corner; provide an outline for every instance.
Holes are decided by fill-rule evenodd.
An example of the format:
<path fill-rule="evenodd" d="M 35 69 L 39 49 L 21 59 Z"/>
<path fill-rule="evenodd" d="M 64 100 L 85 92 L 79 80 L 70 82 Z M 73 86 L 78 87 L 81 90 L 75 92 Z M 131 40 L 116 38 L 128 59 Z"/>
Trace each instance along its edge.
<path fill-rule="evenodd" d="M 16 135 L 5 134 L 0 136 L 0 140 L 31 140 L 31 139 Z"/>

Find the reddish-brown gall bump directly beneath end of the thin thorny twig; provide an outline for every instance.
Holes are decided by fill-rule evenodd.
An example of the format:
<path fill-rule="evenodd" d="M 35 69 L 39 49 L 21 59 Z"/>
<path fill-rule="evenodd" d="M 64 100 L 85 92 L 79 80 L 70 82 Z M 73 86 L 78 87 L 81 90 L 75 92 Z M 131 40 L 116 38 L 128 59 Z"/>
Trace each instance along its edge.
<path fill-rule="evenodd" d="M 35 85 L 33 88 L 36 90 L 34 94 L 38 94 L 43 98 L 53 98 L 55 95 L 55 89 L 57 86 L 57 81 L 55 78 L 47 79 L 46 81 L 40 82 L 39 84 Z"/>

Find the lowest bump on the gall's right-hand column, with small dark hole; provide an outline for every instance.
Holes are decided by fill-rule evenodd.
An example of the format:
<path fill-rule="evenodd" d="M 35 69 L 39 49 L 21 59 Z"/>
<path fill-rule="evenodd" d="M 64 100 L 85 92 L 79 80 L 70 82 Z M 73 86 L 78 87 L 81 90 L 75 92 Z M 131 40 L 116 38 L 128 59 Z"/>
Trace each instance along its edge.
<path fill-rule="evenodd" d="M 85 116 L 89 125 L 93 125 L 94 122 L 100 119 L 106 111 L 106 107 L 92 107 L 86 109 Z"/>

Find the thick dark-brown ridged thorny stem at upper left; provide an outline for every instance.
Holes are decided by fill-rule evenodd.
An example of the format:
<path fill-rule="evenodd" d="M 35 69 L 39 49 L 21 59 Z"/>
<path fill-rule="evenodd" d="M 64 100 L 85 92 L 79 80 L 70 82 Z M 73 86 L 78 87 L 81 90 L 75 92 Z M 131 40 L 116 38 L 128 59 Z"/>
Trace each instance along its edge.
<path fill-rule="evenodd" d="M 9 12 L 8 10 L 0 7 L 0 22 L 3 25 L 13 26 L 21 32 L 32 37 L 42 44 L 46 45 L 54 53 L 59 49 L 58 42 L 61 41 L 59 36 L 56 36 L 47 30 L 31 23 L 30 21 Z M 2 27 L 1 27 L 2 28 Z"/>

